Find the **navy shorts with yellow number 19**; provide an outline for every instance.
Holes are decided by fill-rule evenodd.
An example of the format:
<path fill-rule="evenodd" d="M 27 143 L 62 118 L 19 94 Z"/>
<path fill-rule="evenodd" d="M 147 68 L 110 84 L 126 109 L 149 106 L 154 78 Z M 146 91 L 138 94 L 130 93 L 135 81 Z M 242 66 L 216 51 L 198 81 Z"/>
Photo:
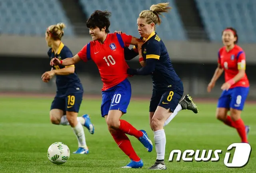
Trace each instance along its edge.
<path fill-rule="evenodd" d="M 52 101 L 52 109 L 60 109 L 64 112 L 79 112 L 80 105 L 83 100 L 83 92 L 60 94 L 57 92 Z"/>

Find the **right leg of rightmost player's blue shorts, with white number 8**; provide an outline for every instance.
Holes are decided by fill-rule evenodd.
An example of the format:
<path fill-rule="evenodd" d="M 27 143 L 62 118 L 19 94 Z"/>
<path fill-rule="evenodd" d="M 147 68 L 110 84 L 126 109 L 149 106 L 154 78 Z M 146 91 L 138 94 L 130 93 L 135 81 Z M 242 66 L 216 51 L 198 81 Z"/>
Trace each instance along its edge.
<path fill-rule="evenodd" d="M 232 88 L 230 108 L 236 110 L 243 110 L 248 93 L 249 87 Z"/>

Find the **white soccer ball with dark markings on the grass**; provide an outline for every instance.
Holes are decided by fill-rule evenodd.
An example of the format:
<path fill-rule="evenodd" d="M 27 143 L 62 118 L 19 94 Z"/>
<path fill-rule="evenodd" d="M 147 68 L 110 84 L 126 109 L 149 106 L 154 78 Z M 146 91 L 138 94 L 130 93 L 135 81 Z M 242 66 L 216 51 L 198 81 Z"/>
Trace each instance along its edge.
<path fill-rule="evenodd" d="M 52 163 L 60 165 L 68 161 L 70 156 L 70 150 L 68 146 L 64 143 L 54 142 L 48 148 L 47 156 Z"/>

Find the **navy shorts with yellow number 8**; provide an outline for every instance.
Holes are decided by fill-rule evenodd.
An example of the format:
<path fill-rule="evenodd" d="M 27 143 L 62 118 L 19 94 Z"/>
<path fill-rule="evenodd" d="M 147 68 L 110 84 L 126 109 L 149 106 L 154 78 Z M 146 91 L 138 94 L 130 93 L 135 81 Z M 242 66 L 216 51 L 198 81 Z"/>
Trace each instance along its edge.
<path fill-rule="evenodd" d="M 150 100 L 149 112 L 155 112 L 157 106 L 170 109 L 174 112 L 183 95 L 182 90 L 155 90 L 153 89 Z"/>

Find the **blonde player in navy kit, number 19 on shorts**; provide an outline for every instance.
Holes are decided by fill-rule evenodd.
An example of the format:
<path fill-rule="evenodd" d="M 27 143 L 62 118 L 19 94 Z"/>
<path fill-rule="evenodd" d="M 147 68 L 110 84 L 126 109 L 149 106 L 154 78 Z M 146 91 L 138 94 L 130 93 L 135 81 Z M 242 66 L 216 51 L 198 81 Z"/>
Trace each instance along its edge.
<path fill-rule="evenodd" d="M 45 39 L 48 47 L 48 56 L 52 58 L 65 59 L 72 56 L 72 52 L 61 41 L 64 35 L 64 23 L 51 25 L 46 29 Z M 78 149 L 74 153 L 87 154 L 89 152 L 84 136 L 84 125 L 91 134 L 94 134 L 88 114 L 77 117 L 82 103 L 83 86 L 76 74 L 75 66 L 54 65 L 51 71 L 42 75 L 44 82 L 50 81 L 56 75 L 56 96 L 50 108 L 50 120 L 52 124 L 70 125 L 78 139 Z"/>

